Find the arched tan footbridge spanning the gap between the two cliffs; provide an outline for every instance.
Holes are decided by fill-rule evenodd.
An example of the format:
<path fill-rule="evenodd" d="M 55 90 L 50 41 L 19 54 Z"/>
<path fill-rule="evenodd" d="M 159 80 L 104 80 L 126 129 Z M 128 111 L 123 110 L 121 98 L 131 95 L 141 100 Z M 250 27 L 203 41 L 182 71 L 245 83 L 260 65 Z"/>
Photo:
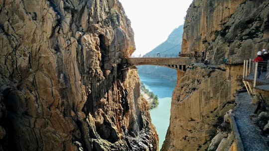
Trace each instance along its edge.
<path fill-rule="evenodd" d="M 172 68 L 181 72 L 185 72 L 187 67 L 193 62 L 193 59 L 189 57 L 131 57 L 123 59 L 123 64 L 126 65 L 126 67 L 139 65 L 155 65 Z"/>

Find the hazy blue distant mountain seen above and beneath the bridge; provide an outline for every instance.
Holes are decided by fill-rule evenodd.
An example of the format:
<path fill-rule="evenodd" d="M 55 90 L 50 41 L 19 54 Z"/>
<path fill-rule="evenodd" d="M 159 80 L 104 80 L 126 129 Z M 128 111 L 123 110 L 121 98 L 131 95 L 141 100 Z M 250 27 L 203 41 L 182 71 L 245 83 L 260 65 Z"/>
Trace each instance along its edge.
<path fill-rule="evenodd" d="M 168 36 L 165 42 L 161 43 L 152 51 L 146 53 L 144 56 L 156 56 L 158 52 L 160 53 L 160 55 L 165 54 L 178 55 L 178 53 L 181 51 L 182 34 L 183 34 L 183 25 L 180 25 L 171 32 L 171 34 Z M 176 82 L 176 76 L 177 76 L 176 70 L 167 67 L 150 66 L 150 65 L 137 66 L 137 69 L 139 74 L 158 76 Z"/>

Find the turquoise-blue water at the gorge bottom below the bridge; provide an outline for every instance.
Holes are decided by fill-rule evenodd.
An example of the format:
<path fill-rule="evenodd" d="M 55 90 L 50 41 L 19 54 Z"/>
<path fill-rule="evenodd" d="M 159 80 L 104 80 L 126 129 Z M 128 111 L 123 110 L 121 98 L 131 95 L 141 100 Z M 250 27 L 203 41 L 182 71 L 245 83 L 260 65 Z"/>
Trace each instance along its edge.
<path fill-rule="evenodd" d="M 149 112 L 151 122 L 156 127 L 159 136 L 159 149 L 161 149 L 170 122 L 171 97 L 176 81 L 172 82 L 160 77 L 140 73 L 139 77 L 145 87 L 155 95 L 158 95 L 159 98 L 159 105 L 149 110 Z"/>

